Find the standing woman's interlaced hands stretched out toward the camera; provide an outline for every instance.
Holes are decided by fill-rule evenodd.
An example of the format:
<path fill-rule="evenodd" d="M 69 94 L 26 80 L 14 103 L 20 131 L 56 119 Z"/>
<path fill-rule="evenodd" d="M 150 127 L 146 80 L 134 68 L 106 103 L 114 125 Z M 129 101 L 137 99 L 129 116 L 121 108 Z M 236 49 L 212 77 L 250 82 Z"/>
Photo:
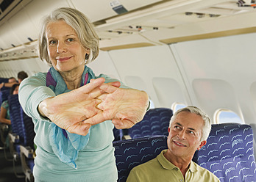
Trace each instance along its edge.
<path fill-rule="evenodd" d="M 130 128 L 143 119 L 149 103 L 146 92 L 122 89 L 120 82 L 105 84 L 104 78 L 71 92 L 47 98 L 38 110 L 70 133 L 86 135 L 91 125 L 112 120 L 115 128 Z"/>

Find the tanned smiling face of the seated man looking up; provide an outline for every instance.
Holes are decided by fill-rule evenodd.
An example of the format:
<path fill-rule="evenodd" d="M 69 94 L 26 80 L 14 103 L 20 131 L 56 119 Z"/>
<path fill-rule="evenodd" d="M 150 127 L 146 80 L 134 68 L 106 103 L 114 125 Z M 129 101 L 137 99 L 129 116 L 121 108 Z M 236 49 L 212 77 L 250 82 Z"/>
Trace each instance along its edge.
<path fill-rule="evenodd" d="M 192 156 L 202 148 L 206 141 L 201 142 L 204 120 L 191 112 L 180 112 L 168 128 L 168 149 L 174 156 Z"/>

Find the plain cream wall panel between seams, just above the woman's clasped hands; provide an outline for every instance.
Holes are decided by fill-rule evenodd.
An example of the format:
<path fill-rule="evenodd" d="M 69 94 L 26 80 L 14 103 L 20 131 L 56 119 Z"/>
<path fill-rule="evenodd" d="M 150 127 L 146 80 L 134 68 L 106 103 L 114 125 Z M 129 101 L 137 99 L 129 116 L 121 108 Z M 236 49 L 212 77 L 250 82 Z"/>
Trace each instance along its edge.
<path fill-rule="evenodd" d="M 188 95 L 182 77 L 167 45 L 110 51 L 121 81 L 145 90 L 156 107 L 186 102 Z M 173 84 L 176 87 L 172 87 Z"/>

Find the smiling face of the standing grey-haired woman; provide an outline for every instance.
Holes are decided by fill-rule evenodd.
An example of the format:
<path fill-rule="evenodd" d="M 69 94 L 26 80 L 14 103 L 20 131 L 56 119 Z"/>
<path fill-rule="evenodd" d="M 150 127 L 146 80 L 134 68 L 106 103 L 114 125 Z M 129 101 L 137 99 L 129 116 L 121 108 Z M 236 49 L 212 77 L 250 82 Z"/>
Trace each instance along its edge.
<path fill-rule="evenodd" d="M 84 68 L 85 54 L 90 49 L 82 47 L 77 33 L 65 21 L 50 22 L 46 26 L 46 40 L 51 65 L 59 72 Z"/>

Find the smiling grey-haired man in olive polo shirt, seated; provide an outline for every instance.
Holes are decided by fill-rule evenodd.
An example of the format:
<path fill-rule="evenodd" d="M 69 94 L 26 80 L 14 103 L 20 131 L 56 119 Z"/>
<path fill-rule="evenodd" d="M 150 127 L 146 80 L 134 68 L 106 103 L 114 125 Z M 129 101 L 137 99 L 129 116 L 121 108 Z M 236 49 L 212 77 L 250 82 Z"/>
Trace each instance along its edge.
<path fill-rule="evenodd" d="M 131 170 L 127 182 L 219 181 L 216 175 L 192 161 L 193 154 L 206 144 L 210 118 L 195 106 L 179 109 L 171 117 L 168 149 L 155 159 Z"/>

